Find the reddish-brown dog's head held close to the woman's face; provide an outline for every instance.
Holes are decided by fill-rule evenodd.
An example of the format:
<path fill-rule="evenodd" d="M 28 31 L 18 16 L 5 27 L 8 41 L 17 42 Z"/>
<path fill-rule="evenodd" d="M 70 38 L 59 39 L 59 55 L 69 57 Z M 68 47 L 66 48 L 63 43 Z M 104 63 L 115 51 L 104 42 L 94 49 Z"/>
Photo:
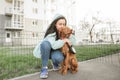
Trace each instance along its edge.
<path fill-rule="evenodd" d="M 65 26 L 61 28 L 60 31 L 60 38 L 69 38 L 70 35 L 72 34 L 72 29 L 70 29 L 69 27 Z"/>

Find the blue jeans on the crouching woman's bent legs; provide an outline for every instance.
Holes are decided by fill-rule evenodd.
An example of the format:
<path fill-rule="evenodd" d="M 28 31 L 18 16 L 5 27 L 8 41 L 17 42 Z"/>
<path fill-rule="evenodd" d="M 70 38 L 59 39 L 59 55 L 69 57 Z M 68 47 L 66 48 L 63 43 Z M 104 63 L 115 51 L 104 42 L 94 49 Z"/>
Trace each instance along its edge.
<path fill-rule="evenodd" d="M 42 67 L 47 67 L 49 58 L 55 66 L 58 66 L 63 60 L 64 56 L 60 50 L 52 50 L 51 44 L 48 41 L 43 41 L 41 43 L 41 59 Z"/>

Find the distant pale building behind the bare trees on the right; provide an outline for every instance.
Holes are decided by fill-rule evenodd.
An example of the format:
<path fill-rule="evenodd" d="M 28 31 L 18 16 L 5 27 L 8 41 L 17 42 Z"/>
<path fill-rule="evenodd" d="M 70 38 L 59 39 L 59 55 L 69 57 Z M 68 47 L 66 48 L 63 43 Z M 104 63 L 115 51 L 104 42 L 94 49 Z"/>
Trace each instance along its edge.
<path fill-rule="evenodd" d="M 102 27 L 101 27 L 102 26 Z M 99 27 L 99 29 L 97 29 Z M 120 42 L 120 23 L 116 24 L 101 24 L 93 31 L 94 42 Z M 101 27 L 101 28 L 100 28 Z"/>

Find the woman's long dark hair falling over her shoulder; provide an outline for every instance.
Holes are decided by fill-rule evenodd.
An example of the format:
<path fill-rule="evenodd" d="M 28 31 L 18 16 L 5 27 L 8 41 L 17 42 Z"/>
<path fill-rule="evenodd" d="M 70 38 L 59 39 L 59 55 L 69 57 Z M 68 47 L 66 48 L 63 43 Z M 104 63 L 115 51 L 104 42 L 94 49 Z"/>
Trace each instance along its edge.
<path fill-rule="evenodd" d="M 60 19 L 65 19 L 65 25 L 67 24 L 67 20 L 66 20 L 66 18 L 65 18 L 64 16 L 61 16 L 61 17 L 55 19 L 54 21 L 52 21 L 52 23 L 49 25 L 48 29 L 46 30 L 46 33 L 45 33 L 44 38 L 45 38 L 48 34 L 51 34 L 51 33 L 54 33 L 54 32 L 55 32 L 55 33 L 56 33 L 56 40 L 59 39 L 58 31 L 57 31 L 57 28 L 56 28 L 55 25 L 56 25 L 57 21 L 60 20 Z"/>

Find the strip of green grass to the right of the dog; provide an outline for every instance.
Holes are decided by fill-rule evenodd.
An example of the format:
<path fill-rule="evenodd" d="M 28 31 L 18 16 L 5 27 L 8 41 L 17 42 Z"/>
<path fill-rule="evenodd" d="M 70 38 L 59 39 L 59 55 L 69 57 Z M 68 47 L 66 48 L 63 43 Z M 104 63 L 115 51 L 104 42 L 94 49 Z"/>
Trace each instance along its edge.
<path fill-rule="evenodd" d="M 83 45 L 76 46 L 78 61 L 89 60 L 93 58 L 103 57 L 106 55 L 120 52 L 120 45 Z"/>

